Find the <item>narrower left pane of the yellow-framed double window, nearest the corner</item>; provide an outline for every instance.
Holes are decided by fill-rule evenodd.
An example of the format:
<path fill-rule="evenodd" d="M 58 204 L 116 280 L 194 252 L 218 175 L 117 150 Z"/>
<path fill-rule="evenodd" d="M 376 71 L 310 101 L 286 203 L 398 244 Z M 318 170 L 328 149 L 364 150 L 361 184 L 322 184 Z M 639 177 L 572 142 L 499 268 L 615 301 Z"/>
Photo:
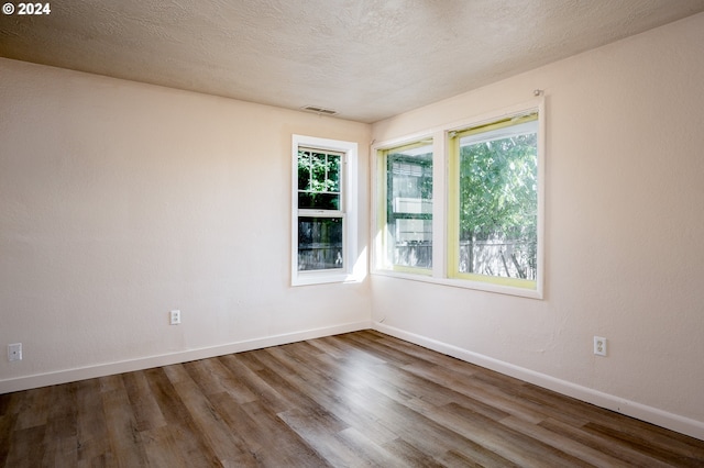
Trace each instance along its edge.
<path fill-rule="evenodd" d="M 385 250 L 392 265 L 432 267 L 432 144 L 386 154 Z"/>

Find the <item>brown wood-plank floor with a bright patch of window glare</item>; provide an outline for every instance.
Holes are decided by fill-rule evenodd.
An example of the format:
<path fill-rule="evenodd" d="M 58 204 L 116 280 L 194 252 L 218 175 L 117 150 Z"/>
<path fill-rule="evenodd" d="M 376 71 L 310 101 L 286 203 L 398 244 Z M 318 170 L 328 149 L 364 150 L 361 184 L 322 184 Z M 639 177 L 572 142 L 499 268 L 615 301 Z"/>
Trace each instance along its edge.
<path fill-rule="evenodd" d="M 371 331 L 0 395 L 0 467 L 704 467 L 704 442 Z"/>

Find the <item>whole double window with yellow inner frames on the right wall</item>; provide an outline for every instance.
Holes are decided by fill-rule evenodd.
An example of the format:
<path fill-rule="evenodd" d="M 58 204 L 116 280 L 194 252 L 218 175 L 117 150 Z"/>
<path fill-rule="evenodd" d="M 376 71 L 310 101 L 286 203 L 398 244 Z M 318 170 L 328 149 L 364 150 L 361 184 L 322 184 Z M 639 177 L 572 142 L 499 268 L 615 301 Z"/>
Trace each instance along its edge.
<path fill-rule="evenodd" d="M 373 271 L 541 298 L 542 105 L 375 146 Z"/>

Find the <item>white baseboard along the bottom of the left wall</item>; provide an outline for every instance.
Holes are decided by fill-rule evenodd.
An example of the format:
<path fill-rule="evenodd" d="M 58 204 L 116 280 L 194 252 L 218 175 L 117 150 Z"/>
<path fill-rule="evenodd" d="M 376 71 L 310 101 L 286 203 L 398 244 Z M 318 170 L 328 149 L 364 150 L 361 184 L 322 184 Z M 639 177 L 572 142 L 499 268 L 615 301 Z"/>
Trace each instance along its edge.
<path fill-rule="evenodd" d="M 226 354 L 242 353 L 270 346 L 285 345 L 288 343 L 301 342 L 305 339 L 338 335 L 340 333 L 356 332 L 360 330 L 371 328 L 371 325 L 372 323 L 369 321 L 348 323 L 343 325 L 306 330 L 302 332 L 285 333 L 275 336 L 246 339 L 243 342 L 229 343 L 224 345 L 198 349 L 187 349 L 183 352 L 122 360 L 118 363 L 100 364 L 97 366 L 58 370 L 55 372 L 36 374 L 13 379 L 4 379 L 0 380 L 0 394 L 46 386 L 54 386 L 58 383 L 75 382 L 78 380 L 92 379 L 96 377 L 131 372 L 134 370 L 151 369 L 153 367 L 168 366 L 172 364 L 188 363 L 190 360 L 206 359 L 209 357 L 222 356 Z"/>

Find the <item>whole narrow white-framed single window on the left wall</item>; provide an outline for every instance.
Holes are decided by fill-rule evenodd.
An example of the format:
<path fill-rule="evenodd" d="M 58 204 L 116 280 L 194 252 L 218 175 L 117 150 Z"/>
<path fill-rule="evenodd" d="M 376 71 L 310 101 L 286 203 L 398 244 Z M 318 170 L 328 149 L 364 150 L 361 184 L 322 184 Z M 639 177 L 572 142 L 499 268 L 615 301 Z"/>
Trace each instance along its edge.
<path fill-rule="evenodd" d="M 294 135 L 292 283 L 352 280 L 356 143 Z"/>

